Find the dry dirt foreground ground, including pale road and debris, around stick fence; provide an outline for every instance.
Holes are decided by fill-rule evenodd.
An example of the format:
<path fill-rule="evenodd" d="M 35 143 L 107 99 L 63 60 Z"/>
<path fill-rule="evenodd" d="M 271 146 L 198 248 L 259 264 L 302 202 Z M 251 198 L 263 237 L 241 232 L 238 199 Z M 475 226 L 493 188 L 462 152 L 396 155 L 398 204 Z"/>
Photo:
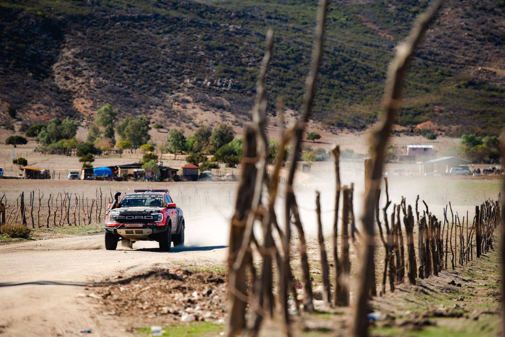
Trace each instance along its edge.
<path fill-rule="evenodd" d="M 296 237 L 293 243 L 296 243 Z M 329 250 L 330 239 L 326 239 Z M 0 329 L 7 336 L 129 336 L 138 328 L 167 331 L 185 315 L 219 323 L 226 317 L 225 246 L 157 251 L 156 243 L 133 249 L 103 249 L 103 235 L 35 240 L 0 247 Z M 308 238 L 313 285 L 321 284 L 316 238 Z M 494 336 L 499 329 L 499 253 L 496 249 L 439 277 L 398 285 L 372 301 L 385 316 L 372 325 L 375 336 Z M 293 256 L 295 247 L 292 248 Z M 377 273 L 382 270 L 380 249 Z M 298 261 L 292 261 L 295 277 Z M 351 264 L 356 255 L 351 246 Z M 355 268 L 351 271 L 354 274 Z M 461 283 L 461 287 L 451 285 Z M 377 284 L 380 290 L 380 283 Z M 352 298 L 351 291 L 351 298 Z M 349 308 L 327 309 L 316 301 L 315 315 L 293 316 L 297 335 L 345 335 Z M 214 323 L 213 323 L 214 324 Z M 281 333 L 267 321 L 262 335 Z M 214 328 L 218 335 L 222 325 Z"/>

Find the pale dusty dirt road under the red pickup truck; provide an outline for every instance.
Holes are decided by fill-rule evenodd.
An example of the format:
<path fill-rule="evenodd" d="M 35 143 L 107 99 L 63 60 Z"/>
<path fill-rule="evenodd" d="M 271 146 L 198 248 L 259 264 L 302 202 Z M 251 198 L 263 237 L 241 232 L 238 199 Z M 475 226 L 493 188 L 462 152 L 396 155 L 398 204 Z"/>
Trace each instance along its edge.
<path fill-rule="evenodd" d="M 70 237 L 0 247 L 0 332 L 8 336 L 128 336 L 115 316 L 84 297 L 86 284 L 152 269 L 224 265 L 225 246 L 172 248 L 135 243 L 106 251 L 103 235 Z M 73 331 L 73 332 L 72 332 Z"/>

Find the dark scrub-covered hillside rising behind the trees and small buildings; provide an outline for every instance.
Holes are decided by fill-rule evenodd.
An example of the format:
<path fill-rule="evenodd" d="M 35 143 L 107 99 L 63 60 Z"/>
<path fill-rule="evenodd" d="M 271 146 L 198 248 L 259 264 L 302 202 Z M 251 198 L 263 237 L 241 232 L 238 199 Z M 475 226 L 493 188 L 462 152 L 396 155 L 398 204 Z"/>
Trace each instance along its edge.
<path fill-rule="evenodd" d="M 333 1 L 313 117 L 350 129 L 375 122 L 394 45 L 427 5 Z M 0 113 L 12 105 L 28 122 L 88 120 L 111 103 L 121 117 L 149 114 L 167 126 L 241 125 L 268 28 L 272 111 L 279 95 L 296 110 L 316 8 L 312 0 L 0 0 Z M 497 134 L 504 45 L 505 3 L 447 1 L 413 61 L 398 124 Z"/>

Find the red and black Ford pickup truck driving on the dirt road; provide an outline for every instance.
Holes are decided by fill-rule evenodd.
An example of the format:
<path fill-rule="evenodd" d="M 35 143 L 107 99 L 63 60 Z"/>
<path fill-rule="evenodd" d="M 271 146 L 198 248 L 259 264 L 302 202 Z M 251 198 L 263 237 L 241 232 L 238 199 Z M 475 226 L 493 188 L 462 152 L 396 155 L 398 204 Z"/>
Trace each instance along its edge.
<path fill-rule="evenodd" d="M 184 216 L 167 189 L 135 189 L 109 205 L 105 223 L 105 249 L 115 250 L 120 240 L 157 241 L 160 250 L 184 246 Z"/>

